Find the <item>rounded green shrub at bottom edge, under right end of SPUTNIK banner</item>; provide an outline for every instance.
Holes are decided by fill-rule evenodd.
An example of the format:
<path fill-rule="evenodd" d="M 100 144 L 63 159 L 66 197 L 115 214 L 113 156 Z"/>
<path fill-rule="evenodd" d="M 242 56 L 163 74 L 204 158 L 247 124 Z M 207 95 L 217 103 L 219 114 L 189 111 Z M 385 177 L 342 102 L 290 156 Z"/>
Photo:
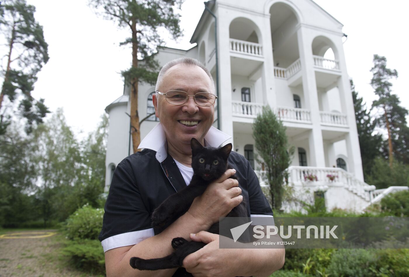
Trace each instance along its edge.
<path fill-rule="evenodd" d="M 327 273 L 330 276 L 374 276 L 370 269 L 375 265 L 376 255 L 372 250 L 339 249 L 332 254 Z"/>

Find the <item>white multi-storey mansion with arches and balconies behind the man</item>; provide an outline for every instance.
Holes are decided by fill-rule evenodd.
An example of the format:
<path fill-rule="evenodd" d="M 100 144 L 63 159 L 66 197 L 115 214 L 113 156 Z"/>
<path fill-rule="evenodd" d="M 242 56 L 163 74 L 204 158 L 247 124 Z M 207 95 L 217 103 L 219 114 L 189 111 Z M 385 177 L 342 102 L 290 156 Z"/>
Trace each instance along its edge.
<path fill-rule="evenodd" d="M 399 189 L 374 191 L 363 182 L 340 22 L 312 0 L 212 0 L 207 7 L 217 18 L 217 44 L 215 20 L 204 10 L 190 41 L 196 46 L 187 51 L 161 48 L 157 60 L 163 65 L 175 58 L 196 58 L 216 82 L 217 51 L 220 122 L 213 126 L 231 135 L 234 151 L 258 174 L 263 168 L 254 160 L 252 122 L 263 105 L 270 105 L 295 146 L 288 181 L 298 197 L 308 199 L 314 191 L 324 191 L 328 209 L 362 211 Z M 142 119 L 154 111 L 155 87 L 139 84 L 138 91 Z M 125 87 L 124 94 L 106 107 L 106 189 L 115 166 L 132 149 L 128 95 Z M 153 115 L 141 124 L 141 140 L 157 123 Z M 315 176 L 317 180 L 308 179 Z"/>

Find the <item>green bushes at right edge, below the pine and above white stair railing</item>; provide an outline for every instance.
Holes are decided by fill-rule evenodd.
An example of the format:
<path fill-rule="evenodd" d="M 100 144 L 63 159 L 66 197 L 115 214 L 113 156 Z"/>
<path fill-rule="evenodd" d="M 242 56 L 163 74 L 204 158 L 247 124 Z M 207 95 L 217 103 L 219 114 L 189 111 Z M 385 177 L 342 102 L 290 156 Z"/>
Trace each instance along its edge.
<path fill-rule="evenodd" d="M 409 186 L 409 165 L 393 161 L 392 168 L 389 162 L 378 157 L 373 163 L 373 173 L 368 177 L 368 183 L 376 188 L 388 188 L 389 186 Z"/>

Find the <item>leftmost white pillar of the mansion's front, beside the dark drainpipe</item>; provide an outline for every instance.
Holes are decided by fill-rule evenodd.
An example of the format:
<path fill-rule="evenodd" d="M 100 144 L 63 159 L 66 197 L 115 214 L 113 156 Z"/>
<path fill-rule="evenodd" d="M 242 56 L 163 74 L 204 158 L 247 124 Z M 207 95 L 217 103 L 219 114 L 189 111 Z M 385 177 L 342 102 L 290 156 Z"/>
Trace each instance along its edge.
<path fill-rule="evenodd" d="M 220 100 L 220 129 L 232 137 L 227 142 L 233 143 L 233 116 L 231 115 L 231 68 L 229 47 L 229 19 L 222 16 L 223 11 L 217 9 L 217 34 L 218 34 L 218 62 L 219 62 L 219 93 Z M 234 145 L 233 145 L 234 149 Z"/>

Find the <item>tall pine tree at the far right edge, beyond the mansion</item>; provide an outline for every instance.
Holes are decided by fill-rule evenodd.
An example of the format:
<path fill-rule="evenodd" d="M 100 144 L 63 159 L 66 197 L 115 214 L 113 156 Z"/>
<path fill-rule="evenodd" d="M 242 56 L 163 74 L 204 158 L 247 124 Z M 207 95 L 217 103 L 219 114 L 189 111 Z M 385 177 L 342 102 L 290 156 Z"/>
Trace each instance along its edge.
<path fill-rule="evenodd" d="M 374 55 L 373 63 L 371 85 L 379 99 L 372 103 L 372 107 L 382 110 L 382 115 L 377 118 L 377 123 L 380 127 L 387 129 L 388 146 L 384 146 L 385 157 L 389 158 L 390 167 L 393 164 L 393 156 L 409 164 L 409 148 L 407 146 L 409 128 L 406 122 L 408 110 L 400 106 L 398 96 L 391 93 L 392 84 L 389 82 L 391 78 L 398 77 L 398 72 L 395 69 L 387 68 L 387 59 L 383 56 Z"/>

